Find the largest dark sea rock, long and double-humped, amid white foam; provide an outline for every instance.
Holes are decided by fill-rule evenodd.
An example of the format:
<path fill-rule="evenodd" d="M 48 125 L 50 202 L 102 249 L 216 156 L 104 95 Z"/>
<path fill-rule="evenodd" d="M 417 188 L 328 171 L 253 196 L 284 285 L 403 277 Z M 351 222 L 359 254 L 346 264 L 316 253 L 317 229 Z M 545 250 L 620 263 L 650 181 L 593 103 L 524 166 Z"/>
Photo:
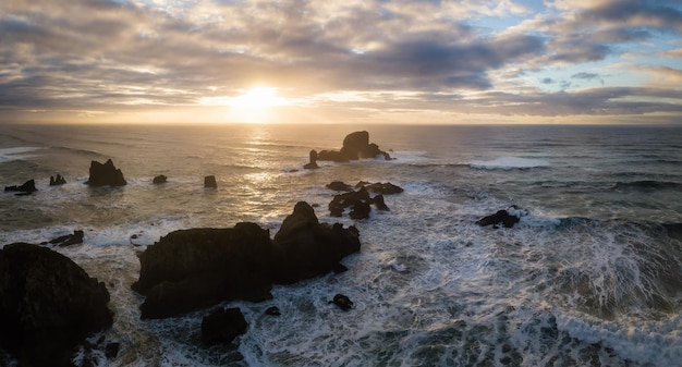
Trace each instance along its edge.
<path fill-rule="evenodd" d="M 171 232 L 139 256 L 145 295 L 142 318 L 163 318 L 223 301 L 271 297 L 272 284 L 293 283 L 332 271 L 360 250 L 357 230 L 318 222 L 307 203 L 296 204 L 273 240 L 255 223 L 230 229 Z"/>

